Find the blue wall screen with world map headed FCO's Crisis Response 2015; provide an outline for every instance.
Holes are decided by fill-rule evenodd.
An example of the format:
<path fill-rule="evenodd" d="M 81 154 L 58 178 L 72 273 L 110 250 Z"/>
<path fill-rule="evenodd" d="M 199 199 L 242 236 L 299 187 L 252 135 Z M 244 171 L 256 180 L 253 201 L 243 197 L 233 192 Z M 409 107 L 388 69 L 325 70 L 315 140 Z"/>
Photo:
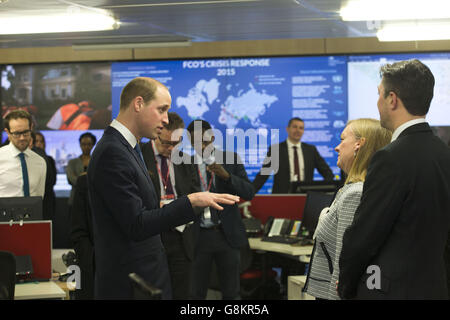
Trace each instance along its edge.
<path fill-rule="evenodd" d="M 347 121 L 347 65 L 344 56 L 230 58 L 113 63 L 112 114 L 119 111 L 122 88 L 148 76 L 164 83 L 172 111 L 186 126 L 194 119 L 211 123 L 221 135 L 215 144 L 239 153 L 250 180 L 267 147 L 287 138 L 290 118 L 305 121 L 303 142 L 317 146 L 339 174 L 334 147 Z M 252 140 L 257 135 L 257 140 Z M 239 139 L 244 136 L 245 143 Z M 186 143 L 183 148 L 189 152 Z M 316 173 L 316 179 L 321 179 Z M 260 193 L 270 193 L 269 179 Z"/>

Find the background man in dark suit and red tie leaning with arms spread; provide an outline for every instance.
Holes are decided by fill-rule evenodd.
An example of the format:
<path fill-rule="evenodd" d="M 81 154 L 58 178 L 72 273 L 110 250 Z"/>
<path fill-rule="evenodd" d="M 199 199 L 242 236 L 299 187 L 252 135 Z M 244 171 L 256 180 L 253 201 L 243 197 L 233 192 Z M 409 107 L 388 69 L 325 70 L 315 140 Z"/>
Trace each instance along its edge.
<path fill-rule="evenodd" d="M 316 147 L 300 142 L 305 132 L 305 123 L 302 119 L 289 120 L 286 131 L 287 140 L 270 146 L 261 171 L 253 180 L 256 192 L 266 183 L 272 170 L 274 172 L 272 193 L 289 193 L 291 182 L 313 181 L 314 169 L 317 169 L 325 180 L 334 178 L 333 172 Z"/>

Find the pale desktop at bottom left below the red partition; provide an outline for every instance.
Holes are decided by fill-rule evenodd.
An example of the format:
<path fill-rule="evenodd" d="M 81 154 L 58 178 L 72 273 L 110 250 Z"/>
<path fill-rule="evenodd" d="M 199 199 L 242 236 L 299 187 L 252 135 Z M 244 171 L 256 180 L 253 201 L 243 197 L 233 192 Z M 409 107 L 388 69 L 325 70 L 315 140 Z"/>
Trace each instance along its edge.
<path fill-rule="evenodd" d="M 14 300 L 64 299 L 66 293 L 53 281 L 16 284 Z"/>

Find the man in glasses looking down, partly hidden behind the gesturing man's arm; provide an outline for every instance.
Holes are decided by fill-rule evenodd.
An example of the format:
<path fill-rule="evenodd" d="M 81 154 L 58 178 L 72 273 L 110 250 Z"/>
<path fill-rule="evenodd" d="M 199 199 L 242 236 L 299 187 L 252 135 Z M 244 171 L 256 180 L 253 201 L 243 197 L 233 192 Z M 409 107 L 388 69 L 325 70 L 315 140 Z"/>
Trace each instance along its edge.
<path fill-rule="evenodd" d="M 164 126 L 159 137 L 142 145 L 144 161 L 161 206 L 178 197 L 201 191 L 194 165 L 171 161 L 173 152 L 181 153 L 175 146 L 182 140 L 183 129 L 183 119 L 175 112 L 169 112 L 169 124 Z M 194 255 L 191 226 L 181 225 L 161 233 L 175 300 L 187 300 L 190 295 L 191 261 Z"/>

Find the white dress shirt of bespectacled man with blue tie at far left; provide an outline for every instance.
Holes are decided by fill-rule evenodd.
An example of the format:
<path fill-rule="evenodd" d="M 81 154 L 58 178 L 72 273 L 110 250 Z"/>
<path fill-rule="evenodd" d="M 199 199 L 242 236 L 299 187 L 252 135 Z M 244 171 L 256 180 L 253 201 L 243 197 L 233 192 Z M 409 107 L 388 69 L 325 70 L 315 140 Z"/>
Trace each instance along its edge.
<path fill-rule="evenodd" d="M 17 149 L 11 142 L 0 148 L 0 197 L 23 197 L 22 164 Z M 30 196 L 44 197 L 47 164 L 36 152 L 26 149 Z"/>

